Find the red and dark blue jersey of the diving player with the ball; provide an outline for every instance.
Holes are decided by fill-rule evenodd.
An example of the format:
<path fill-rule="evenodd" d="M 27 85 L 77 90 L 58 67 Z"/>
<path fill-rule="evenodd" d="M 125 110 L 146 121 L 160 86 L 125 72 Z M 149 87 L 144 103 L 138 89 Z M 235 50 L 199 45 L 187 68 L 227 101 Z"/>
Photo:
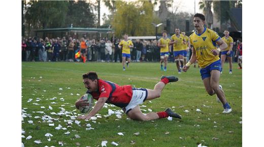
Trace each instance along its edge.
<path fill-rule="evenodd" d="M 93 99 L 98 100 L 100 97 L 107 97 L 107 103 L 114 104 L 118 107 L 125 107 L 131 100 L 133 95 L 130 85 L 119 86 L 113 82 L 98 79 L 98 91 L 89 92 Z"/>

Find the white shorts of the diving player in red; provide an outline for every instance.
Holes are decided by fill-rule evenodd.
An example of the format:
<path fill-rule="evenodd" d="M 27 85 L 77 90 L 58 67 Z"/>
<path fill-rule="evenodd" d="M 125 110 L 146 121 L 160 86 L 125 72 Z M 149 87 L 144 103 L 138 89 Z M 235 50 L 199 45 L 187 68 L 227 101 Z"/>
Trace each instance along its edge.
<path fill-rule="evenodd" d="M 133 95 L 130 102 L 122 108 L 126 114 L 137 105 L 142 104 L 148 97 L 148 91 L 145 88 L 133 88 L 132 90 Z"/>

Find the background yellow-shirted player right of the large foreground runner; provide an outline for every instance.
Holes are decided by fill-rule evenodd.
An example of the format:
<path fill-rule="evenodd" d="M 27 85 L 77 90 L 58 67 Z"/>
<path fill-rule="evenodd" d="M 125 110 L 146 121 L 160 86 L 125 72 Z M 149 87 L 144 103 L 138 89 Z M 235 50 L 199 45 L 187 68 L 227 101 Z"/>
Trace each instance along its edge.
<path fill-rule="evenodd" d="M 223 51 L 221 51 L 221 65 L 223 68 L 224 65 L 224 61 L 227 57 L 227 60 L 229 62 L 229 74 L 232 74 L 232 57 L 233 57 L 233 44 L 234 44 L 234 40 L 231 36 L 229 36 L 229 31 L 225 30 L 224 31 L 224 36 L 222 37 L 222 40 L 227 44 L 227 48 Z M 222 72 L 221 72 L 222 73 Z"/>

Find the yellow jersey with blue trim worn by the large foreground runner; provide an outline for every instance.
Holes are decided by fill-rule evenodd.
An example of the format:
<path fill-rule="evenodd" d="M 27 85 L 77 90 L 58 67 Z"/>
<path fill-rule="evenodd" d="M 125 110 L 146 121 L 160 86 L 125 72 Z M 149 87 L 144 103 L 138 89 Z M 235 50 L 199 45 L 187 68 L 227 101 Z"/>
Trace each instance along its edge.
<path fill-rule="evenodd" d="M 211 53 L 212 50 L 216 49 L 216 42 L 220 39 L 215 31 L 206 27 L 201 34 L 197 34 L 195 31 L 190 35 L 190 44 L 195 49 L 200 67 L 205 68 L 220 59 L 218 55 L 215 56 Z"/>

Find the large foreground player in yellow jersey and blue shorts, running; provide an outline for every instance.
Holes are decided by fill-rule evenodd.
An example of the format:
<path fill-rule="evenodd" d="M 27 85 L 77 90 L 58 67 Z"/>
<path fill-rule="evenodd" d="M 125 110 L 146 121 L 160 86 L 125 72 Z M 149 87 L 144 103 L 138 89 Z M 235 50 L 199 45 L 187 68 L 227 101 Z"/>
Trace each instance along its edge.
<path fill-rule="evenodd" d="M 186 72 L 190 65 L 197 59 L 201 67 L 200 73 L 207 93 L 209 95 L 216 94 L 217 98 L 223 104 L 223 113 L 230 113 L 232 112 L 232 108 L 226 101 L 224 91 L 219 85 L 222 69 L 218 54 L 221 50 L 225 50 L 227 45 L 215 31 L 204 27 L 205 16 L 203 14 L 196 13 L 193 16 L 193 25 L 196 29 L 190 35 L 190 43 L 193 46 L 193 51 L 190 60 L 184 65 L 183 71 Z M 216 43 L 219 45 L 219 48 L 216 48 Z"/>

